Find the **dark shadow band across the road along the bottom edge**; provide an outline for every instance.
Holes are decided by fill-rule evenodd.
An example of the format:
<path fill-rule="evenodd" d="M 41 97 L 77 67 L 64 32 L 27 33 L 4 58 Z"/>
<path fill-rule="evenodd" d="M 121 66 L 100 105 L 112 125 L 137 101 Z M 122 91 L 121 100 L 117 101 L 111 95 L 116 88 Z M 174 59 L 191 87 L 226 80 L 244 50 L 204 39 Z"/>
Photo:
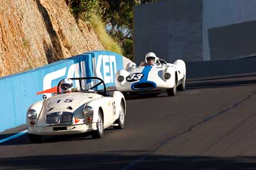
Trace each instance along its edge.
<path fill-rule="evenodd" d="M 138 151 L 0 159 L 0 169 L 256 169 L 256 157 L 147 155 Z"/>

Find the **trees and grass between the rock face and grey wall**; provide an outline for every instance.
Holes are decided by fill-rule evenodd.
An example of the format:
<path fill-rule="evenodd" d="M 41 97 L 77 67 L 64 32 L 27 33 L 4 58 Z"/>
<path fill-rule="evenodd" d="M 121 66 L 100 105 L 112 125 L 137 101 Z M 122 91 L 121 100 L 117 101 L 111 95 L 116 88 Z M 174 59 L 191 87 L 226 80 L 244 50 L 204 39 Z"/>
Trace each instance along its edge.
<path fill-rule="evenodd" d="M 120 49 L 122 53 L 120 51 L 118 53 L 132 60 L 132 7 L 138 4 L 156 2 L 158 0 L 65 1 L 76 18 L 81 18 L 85 22 L 93 25 L 97 34 L 100 35 L 100 41 L 105 46 L 106 50 L 117 52 L 116 50 Z M 105 31 L 103 31 L 102 25 Z M 110 36 L 103 35 L 103 32 L 108 32 Z M 122 49 L 120 47 L 118 48 L 118 46 Z"/>

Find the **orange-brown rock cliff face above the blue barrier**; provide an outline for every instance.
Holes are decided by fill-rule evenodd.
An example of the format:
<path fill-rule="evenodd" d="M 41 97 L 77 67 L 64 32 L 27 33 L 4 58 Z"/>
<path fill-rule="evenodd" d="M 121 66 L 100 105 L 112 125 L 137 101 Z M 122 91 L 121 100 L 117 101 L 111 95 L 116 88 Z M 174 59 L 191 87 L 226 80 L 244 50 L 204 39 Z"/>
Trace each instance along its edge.
<path fill-rule="evenodd" d="M 97 34 L 64 0 L 0 1 L 0 76 L 93 50 L 104 50 Z"/>

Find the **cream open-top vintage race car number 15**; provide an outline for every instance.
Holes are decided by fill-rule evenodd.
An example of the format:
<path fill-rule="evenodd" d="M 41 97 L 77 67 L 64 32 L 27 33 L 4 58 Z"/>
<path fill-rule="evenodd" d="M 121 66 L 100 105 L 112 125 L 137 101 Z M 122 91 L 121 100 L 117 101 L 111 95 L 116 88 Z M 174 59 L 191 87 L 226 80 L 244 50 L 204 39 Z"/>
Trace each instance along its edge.
<path fill-rule="evenodd" d="M 26 124 L 32 143 L 40 142 L 44 135 L 90 131 L 92 138 L 102 138 L 104 129 L 111 125 L 114 129 L 124 128 L 125 98 L 121 92 L 106 92 L 106 85 L 100 78 L 69 80 L 76 82 L 79 88 L 60 92 L 62 80 L 58 83 L 58 92 L 54 96 L 48 99 L 43 96 L 43 101 L 29 107 Z M 97 90 L 99 86 L 104 87 L 104 90 Z"/>

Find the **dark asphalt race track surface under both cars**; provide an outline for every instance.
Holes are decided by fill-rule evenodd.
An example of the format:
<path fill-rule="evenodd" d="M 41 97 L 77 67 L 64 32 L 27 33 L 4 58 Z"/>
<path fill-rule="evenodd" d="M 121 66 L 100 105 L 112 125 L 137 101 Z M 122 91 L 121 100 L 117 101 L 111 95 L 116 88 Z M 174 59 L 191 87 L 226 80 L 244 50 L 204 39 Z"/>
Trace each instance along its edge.
<path fill-rule="evenodd" d="M 129 97 L 125 129 L 102 139 L 0 143 L 0 169 L 256 169 L 255 101 L 256 74 L 188 80 L 175 97 Z"/>

